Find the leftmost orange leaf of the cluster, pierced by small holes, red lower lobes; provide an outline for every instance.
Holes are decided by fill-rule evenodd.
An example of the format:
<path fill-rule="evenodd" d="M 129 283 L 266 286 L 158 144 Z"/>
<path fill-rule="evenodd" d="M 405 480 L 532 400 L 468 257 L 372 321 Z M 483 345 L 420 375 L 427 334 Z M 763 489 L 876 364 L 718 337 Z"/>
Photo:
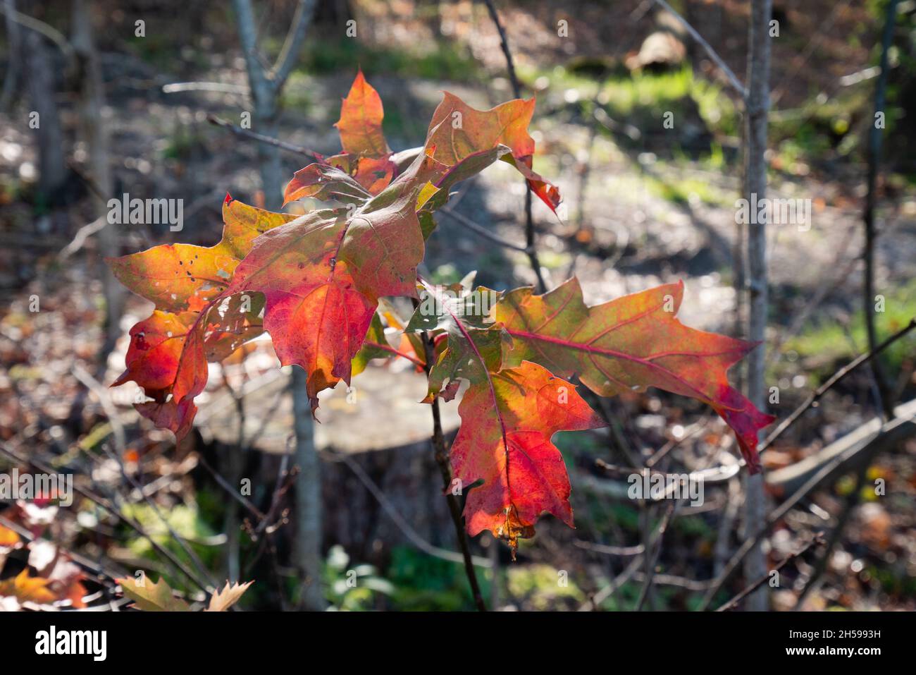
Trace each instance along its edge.
<path fill-rule="evenodd" d="M 223 238 L 212 247 L 167 244 L 109 259 L 114 275 L 156 310 L 130 330 L 128 381 L 143 388 L 137 411 L 181 439 L 197 412 L 193 398 L 207 382 L 207 361 L 221 360 L 261 332 L 264 298 L 232 296 L 226 287 L 257 237 L 296 216 L 245 205 L 226 195 Z"/>

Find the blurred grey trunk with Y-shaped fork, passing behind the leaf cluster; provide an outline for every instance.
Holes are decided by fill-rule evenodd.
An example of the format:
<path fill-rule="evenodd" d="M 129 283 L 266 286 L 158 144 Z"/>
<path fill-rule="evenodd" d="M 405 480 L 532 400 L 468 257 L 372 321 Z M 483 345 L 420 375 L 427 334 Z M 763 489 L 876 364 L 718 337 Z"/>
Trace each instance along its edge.
<path fill-rule="evenodd" d="M 250 0 L 233 0 L 238 20 L 239 39 L 245 50 L 248 87 L 255 105 L 256 132 L 277 138 L 278 101 L 296 53 L 311 23 L 315 3 L 300 0 L 293 17 L 289 35 L 284 42 L 276 67 L 265 72 L 258 61 L 256 21 Z M 258 164 L 261 188 L 268 209 L 278 210 L 283 191 L 283 172 L 279 149 L 266 143 L 258 144 Z M 321 459 L 315 451 L 311 404 L 306 392 L 306 374 L 293 366 L 292 400 L 296 435 L 295 463 L 300 473 L 296 478 L 296 541 L 295 565 L 302 575 L 301 606 L 306 610 L 322 610 L 327 606 L 322 592 L 322 476 Z"/>

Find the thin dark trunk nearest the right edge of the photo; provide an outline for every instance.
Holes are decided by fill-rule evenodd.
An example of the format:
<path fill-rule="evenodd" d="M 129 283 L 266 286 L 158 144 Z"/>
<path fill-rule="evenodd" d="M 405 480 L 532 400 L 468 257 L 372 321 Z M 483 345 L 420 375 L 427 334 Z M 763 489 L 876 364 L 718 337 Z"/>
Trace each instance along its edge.
<path fill-rule="evenodd" d="M 894 36 L 894 23 L 897 19 L 897 0 L 890 0 L 888 16 L 884 24 L 884 34 L 881 38 L 881 74 L 875 86 L 875 118 L 871 120 L 868 131 L 868 192 L 865 201 L 865 280 L 863 284 L 865 301 L 865 323 L 868 332 L 868 350 L 873 351 L 878 345 L 878 331 L 875 328 L 875 240 L 878 233 L 875 231 L 875 205 L 878 201 L 878 163 L 881 160 L 881 135 L 883 128 L 878 128 L 878 113 L 885 113 L 885 94 L 888 88 L 888 50 Z M 886 419 L 894 417 L 894 400 L 888 377 L 881 367 L 880 359 L 871 361 L 871 371 L 874 373 L 875 382 L 878 384 L 881 413 Z"/>

